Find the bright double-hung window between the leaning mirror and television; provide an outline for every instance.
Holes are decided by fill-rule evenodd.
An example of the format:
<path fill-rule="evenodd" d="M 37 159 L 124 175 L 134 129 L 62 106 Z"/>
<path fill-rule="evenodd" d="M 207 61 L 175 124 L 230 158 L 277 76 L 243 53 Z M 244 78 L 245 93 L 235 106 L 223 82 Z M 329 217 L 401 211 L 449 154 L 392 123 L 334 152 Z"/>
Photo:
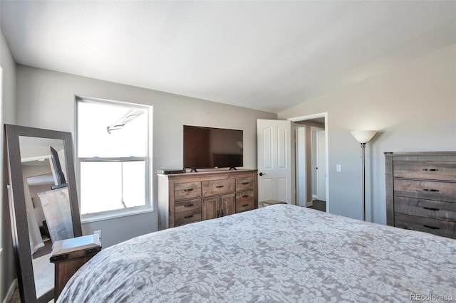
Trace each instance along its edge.
<path fill-rule="evenodd" d="M 76 98 L 81 218 L 151 208 L 152 107 Z"/>

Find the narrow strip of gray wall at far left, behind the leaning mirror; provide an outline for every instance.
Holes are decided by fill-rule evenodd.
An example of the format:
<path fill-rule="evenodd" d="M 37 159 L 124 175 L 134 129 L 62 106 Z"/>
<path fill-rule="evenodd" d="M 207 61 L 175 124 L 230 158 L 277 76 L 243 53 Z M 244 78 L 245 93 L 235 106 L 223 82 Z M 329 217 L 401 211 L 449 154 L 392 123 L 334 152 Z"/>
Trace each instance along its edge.
<path fill-rule="evenodd" d="M 16 63 L 9 50 L 8 43 L 0 29 L 0 66 L 3 69 L 3 94 L 0 98 L 0 218 L 1 218 L 1 246 L 0 255 L 0 300 L 3 302 L 16 278 L 14 267 L 13 242 L 11 238 L 11 224 L 9 220 L 8 192 L 8 164 L 6 161 L 6 147 L 4 138 L 4 123 L 15 123 L 16 101 Z"/>

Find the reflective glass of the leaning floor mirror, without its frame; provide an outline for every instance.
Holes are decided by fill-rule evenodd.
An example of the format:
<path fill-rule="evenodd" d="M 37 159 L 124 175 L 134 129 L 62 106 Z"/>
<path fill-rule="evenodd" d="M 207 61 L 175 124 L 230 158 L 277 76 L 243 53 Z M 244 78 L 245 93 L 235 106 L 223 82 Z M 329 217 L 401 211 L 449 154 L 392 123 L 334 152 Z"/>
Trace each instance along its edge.
<path fill-rule="evenodd" d="M 63 140 L 19 137 L 36 297 L 54 287 L 56 240 L 73 238 Z"/>

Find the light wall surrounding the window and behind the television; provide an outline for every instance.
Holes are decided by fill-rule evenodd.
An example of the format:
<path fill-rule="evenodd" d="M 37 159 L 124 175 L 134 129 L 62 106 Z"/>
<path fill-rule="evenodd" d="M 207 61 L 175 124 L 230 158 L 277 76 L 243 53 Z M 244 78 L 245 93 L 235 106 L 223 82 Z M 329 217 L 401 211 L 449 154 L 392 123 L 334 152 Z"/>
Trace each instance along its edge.
<path fill-rule="evenodd" d="M 244 167 L 257 168 L 257 119 L 269 112 L 17 65 L 17 124 L 72 132 L 75 95 L 153 105 L 153 171 L 182 167 L 182 125 L 244 130 Z M 157 209 L 154 174 L 153 203 Z M 103 247 L 157 230 L 157 211 L 83 224 L 102 230 Z"/>

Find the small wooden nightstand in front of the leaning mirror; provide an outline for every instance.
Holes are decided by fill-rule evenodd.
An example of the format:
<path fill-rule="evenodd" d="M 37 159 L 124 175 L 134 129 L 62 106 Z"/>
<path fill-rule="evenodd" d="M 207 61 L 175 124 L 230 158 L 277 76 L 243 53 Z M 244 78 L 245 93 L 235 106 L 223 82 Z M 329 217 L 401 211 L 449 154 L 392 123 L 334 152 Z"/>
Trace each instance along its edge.
<path fill-rule="evenodd" d="M 58 240 L 53 244 L 49 260 L 55 265 L 55 301 L 63 287 L 65 287 L 66 282 L 100 250 L 101 242 L 98 234 Z"/>

